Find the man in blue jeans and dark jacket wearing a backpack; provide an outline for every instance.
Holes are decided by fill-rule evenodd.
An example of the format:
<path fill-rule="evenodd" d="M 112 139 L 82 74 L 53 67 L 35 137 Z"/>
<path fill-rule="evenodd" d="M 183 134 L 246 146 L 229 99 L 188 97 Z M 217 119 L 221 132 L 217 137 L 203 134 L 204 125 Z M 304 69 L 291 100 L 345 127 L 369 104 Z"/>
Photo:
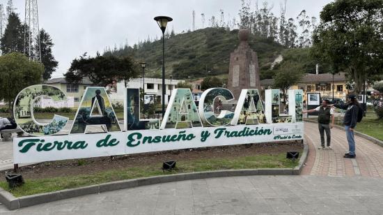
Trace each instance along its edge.
<path fill-rule="evenodd" d="M 355 158 L 355 139 L 354 139 L 354 128 L 357 126 L 359 102 L 357 97 L 354 95 L 348 96 L 346 104 L 334 104 L 335 107 L 346 110 L 343 124 L 345 125 L 345 131 L 348 142 L 349 152 L 343 156 L 344 158 Z"/>

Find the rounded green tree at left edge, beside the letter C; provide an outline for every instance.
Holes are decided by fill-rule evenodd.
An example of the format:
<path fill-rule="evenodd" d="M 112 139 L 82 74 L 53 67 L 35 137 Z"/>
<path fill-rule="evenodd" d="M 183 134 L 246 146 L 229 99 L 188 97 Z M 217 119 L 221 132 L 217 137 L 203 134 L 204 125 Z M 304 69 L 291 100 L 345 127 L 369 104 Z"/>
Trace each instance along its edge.
<path fill-rule="evenodd" d="M 0 100 L 8 103 L 10 112 L 19 91 L 33 84 L 40 84 L 43 69 L 42 64 L 29 61 L 21 53 L 0 56 Z"/>

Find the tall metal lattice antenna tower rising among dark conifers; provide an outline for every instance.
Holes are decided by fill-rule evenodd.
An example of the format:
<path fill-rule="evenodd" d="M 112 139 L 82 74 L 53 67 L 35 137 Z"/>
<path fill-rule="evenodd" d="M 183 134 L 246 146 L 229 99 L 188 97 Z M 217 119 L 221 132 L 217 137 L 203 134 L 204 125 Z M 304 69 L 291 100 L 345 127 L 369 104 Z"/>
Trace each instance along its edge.
<path fill-rule="evenodd" d="M 25 0 L 24 54 L 28 55 L 30 60 L 41 62 L 37 0 Z"/>

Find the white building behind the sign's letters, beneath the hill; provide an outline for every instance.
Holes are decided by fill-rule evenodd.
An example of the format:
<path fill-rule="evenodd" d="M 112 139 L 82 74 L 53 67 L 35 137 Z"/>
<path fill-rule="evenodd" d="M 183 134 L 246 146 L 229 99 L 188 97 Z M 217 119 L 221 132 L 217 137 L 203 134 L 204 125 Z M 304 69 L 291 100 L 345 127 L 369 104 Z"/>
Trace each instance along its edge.
<path fill-rule="evenodd" d="M 173 89 L 177 87 L 177 84 L 180 82 L 185 82 L 185 80 L 170 80 L 165 79 L 165 104 L 168 103 L 171 92 Z M 143 83 L 145 83 L 145 95 L 146 95 L 146 103 L 150 96 L 155 96 L 158 101 L 162 101 L 162 79 L 161 78 L 151 78 L 146 77 L 143 82 L 143 78 L 134 78 L 127 82 L 126 88 L 134 88 L 139 89 L 143 88 Z M 118 82 L 116 83 L 115 90 L 111 90 L 109 94 L 109 98 L 111 98 L 112 103 L 120 103 L 123 104 L 124 101 L 124 89 L 125 83 Z"/>

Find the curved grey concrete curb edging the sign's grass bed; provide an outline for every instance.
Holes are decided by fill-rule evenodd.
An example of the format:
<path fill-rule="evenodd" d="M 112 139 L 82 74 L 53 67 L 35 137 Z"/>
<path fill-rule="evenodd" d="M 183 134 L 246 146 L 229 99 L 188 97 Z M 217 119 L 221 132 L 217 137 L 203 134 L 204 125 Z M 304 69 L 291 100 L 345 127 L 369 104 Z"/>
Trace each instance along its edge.
<path fill-rule="evenodd" d="M 214 177 L 237 177 L 251 175 L 299 175 L 307 160 L 308 145 L 303 141 L 304 150 L 299 158 L 299 164 L 292 169 L 274 168 L 274 169 L 244 169 L 244 170 L 217 170 L 208 172 L 190 172 L 174 175 L 161 175 L 155 177 L 145 177 L 139 179 L 127 179 L 123 181 L 112 181 L 104 184 L 95 184 L 81 188 L 71 188 L 62 191 L 54 191 L 51 193 L 41 193 L 36 195 L 26 195 L 20 198 L 15 198 L 8 191 L 0 188 L 0 202 L 8 209 L 20 209 L 32 205 L 40 205 L 42 203 L 64 200 L 81 195 L 104 193 L 108 191 L 116 191 L 124 188 L 134 188 L 138 186 L 146 186 L 153 184 L 161 184 L 174 181 L 185 181 L 194 179 L 208 179 Z"/>

